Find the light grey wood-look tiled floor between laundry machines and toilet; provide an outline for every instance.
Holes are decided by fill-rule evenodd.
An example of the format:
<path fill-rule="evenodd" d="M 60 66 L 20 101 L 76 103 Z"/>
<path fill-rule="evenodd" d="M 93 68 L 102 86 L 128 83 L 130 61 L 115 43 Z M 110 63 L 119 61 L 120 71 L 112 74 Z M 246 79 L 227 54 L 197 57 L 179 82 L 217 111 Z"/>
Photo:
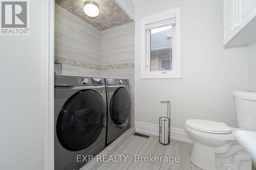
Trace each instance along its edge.
<path fill-rule="evenodd" d="M 151 136 L 150 138 L 142 138 L 134 136 L 135 129 L 130 128 L 118 139 L 113 141 L 108 147 L 101 151 L 97 156 L 103 157 L 104 155 L 111 155 L 116 161 L 100 162 L 97 157 L 94 157 L 89 163 L 84 165 L 81 170 L 202 170 L 190 162 L 190 154 L 192 145 L 180 141 L 171 141 L 169 145 L 162 145 L 159 143 L 157 136 Z M 119 158 L 119 156 L 122 156 Z M 135 161 L 135 155 L 139 156 L 166 156 L 180 158 L 179 162 L 138 162 Z M 126 157 L 126 161 L 124 159 Z M 106 156 L 110 158 L 110 156 Z M 121 160 L 121 161 L 118 161 Z M 252 168 L 256 170 L 255 168 Z"/>

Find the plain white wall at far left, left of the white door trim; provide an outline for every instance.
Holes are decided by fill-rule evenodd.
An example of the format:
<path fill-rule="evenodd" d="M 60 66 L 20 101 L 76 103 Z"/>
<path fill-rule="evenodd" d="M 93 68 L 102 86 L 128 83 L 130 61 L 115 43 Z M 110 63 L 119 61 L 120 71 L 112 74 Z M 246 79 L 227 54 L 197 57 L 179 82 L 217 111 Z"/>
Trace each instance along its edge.
<path fill-rule="evenodd" d="M 29 2 L 30 35 L 0 36 L 0 169 L 43 168 L 43 1 Z"/>

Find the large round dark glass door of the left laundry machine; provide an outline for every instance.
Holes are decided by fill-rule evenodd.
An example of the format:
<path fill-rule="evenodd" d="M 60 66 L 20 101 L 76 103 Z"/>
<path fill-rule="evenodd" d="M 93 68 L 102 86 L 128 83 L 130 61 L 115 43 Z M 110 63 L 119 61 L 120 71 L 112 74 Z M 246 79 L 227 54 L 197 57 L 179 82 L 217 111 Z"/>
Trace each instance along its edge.
<path fill-rule="evenodd" d="M 61 145 L 69 151 L 88 148 L 101 134 L 106 115 L 102 96 L 93 90 L 81 90 L 62 107 L 56 125 Z"/>

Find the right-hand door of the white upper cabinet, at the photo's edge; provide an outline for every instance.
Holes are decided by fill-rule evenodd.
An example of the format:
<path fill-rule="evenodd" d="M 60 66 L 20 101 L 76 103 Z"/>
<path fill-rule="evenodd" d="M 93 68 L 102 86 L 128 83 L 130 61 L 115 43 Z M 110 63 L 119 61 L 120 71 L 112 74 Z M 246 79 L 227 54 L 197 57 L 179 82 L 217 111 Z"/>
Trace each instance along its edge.
<path fill-rule="evenodd" d="M 237 1 L 237 23 L 238 32 L 243 29 L 256 16 L 256 0 Z"/>

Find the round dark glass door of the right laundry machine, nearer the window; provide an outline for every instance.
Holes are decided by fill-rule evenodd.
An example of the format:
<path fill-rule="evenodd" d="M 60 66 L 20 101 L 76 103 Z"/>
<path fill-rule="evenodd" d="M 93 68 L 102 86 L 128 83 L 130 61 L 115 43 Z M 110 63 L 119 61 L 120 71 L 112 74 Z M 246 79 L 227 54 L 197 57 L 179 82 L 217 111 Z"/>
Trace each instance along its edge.
<path fill-rule="evenodd" d="M 122 125 L 131 114 L 131 96 L 129 91 L 124 88 L 118 88 L 111 100 L 111 118 L 116 125 Z"/>

